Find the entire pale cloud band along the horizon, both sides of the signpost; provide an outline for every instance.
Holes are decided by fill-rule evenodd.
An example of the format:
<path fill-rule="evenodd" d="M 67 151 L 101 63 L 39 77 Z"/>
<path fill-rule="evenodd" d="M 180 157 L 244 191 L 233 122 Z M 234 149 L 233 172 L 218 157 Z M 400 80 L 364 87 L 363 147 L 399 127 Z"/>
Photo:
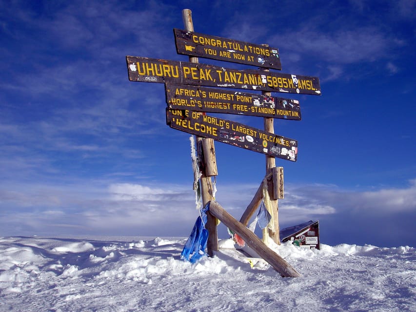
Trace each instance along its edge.
<path fill-rule="evenodd" d="M 106 186 L 105 183 L 89 186 L 28 184 L 19 188 L 2 185 L 0 228 L 4 233 L 20 234 L 54 235 L 62 231 L 70 234 L 77 228 L 77 234 L 186 236 L 198 216 L 195 195 L 188 186 L 133 183 Z M 220 185 L 216 197 L 238 219 L 257 187 Z M 362 220 L 373 228 L 376 225 L 372 220 L 379 222 L 382 217 L 393 222 L 393 229 L 400 222 L 396 215 L 410 217 L 415 212 L 416 180 L 401 189 L 365 192 L 331 185 L 291 185 L 286 187 L 285 198 L 279 200 L 282 227 L 320 219 L 323 239 L 338 243 L 342 242 L 342 237 L 326 237 L 326 228 L 336 224 L 345 226 L 345 220 L 349 228 L 361 226 Z M 405 224 L 403 222 L 403 227 Z M 385 228 L 383 231 L 391 233 L 392 230 Z"/>

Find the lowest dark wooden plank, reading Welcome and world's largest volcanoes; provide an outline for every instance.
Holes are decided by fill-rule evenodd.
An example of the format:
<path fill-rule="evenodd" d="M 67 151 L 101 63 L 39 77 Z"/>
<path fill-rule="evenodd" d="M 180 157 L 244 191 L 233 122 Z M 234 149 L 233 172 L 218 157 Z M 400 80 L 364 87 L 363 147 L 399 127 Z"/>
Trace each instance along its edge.
<path fill-rule="evenodd" d="M 235 145 L 258 153 L 296 161 L 297 141 L 241 123 L 188 110 L 166 110 L 166 123 L 199 137 Z"/>

